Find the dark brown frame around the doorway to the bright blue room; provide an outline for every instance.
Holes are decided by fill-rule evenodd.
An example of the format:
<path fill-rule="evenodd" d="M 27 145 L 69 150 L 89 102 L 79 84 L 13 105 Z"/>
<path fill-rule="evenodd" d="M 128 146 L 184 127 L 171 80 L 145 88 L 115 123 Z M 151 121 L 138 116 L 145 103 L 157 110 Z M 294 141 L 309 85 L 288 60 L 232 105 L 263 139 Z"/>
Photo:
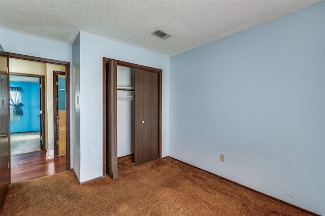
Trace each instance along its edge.
<path fill-rule="evenodd" d="M 9 58 L 8 58 L 9 59 Z M 41 88 L 42 88 L 42 95 L 40 95 L 40 97 L 42 96 L 41 101 L 42 101 L 42 125 L 40 125 L 40 129 L 42 127 L 42 146 L 43 149 L 42 151 L 46 150 L 46 125 L 45 125 L 45 76 L 44 75 L 35 75 L 35 74 L 22 74 L 22 73 L 15 73 L 15 72 L 10 72 L 9 71 L 9 82 L 10 82 L 10 75 L 14 75 L 14 76 L 21 76 L 21 77 L 35 77 L 35 78 L 40 78 L 42 79 L 42 84 L 41 84 Z M 10 86 L 9 86 L 10 87 Z M 10 128 L 9 128 L 10 131 Z"/>

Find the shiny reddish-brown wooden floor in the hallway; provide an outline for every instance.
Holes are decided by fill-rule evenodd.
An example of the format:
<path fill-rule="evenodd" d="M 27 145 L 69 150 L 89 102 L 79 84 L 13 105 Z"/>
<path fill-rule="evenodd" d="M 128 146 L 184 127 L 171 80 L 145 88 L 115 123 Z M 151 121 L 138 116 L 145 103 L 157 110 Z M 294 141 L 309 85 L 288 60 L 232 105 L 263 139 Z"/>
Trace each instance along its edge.
<path fill-rule="evenodd" d="M 11 184 L 66 170 L 66 156 L 46 160 L 46 152 L 11 156 Z"/>

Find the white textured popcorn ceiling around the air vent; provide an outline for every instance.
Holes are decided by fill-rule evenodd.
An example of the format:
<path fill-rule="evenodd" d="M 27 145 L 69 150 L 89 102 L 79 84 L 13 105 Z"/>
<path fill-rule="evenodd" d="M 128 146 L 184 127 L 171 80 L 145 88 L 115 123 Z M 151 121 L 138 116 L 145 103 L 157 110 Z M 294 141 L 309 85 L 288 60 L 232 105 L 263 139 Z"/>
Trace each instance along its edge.
<path fill-rule="evenodd" d="M 0 28 L 69 44 L 84 31 L 173 56 L 317 2 L 0 0 Z"/>

